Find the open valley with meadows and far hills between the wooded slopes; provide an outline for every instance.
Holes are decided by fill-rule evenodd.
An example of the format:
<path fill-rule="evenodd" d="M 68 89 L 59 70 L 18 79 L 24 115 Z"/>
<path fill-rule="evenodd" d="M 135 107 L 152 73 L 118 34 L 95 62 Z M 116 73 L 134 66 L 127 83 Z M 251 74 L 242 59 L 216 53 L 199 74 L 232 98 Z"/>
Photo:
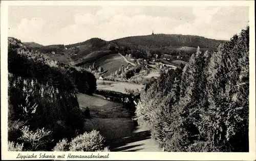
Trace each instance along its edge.
<path fill-rule="evenodd" d="M 170 44 L 165 38 L 175 40 L 176 46 L 168 46 Z M 176 35 L 154 35 L 110 42 L 93 38 L 66 46 L 42 46 L 31 42 L 25 45 L 41 51 L 51 60 L 92 72 L 97 78 L 98 91 L 129 94 L 129 90 L 141 91 L 147 79 L 157 78 L 161 72 L 176 69 L 187 63 L 187 58 L 182 57 L 189 57 L 189 52 L 196 51 L 196 46 L 191 45 L 191 39 L 187 44 L 183 44 L 190 44 L 191 47 L 179 46 L 177 44 L 180 38 L 178 36 L 177 41 L 176 38 Z M 149 45 L 147 42 L 150 40 L 154 40 L 156 46 Z M 213 40 L 212 42 L 216 43 Z M 157 47 L 159 44 L 165 44 L 165 48 Z M 125 77 L 129 71 L 136 72 Z M 127 109 L 123 102 L 107 98 L 109 99 L 108 95 L 99 93 L 77 94 L 81 112 L 84 113 L 88 108 L 90 110 L 91 119 L 86 119 L 83 130 L 99 131 L 106 139 L 106 146 L 109 146 L 110 151 L 162 151 L 151 137 L 150 128 L 138 125 L 133 120 L 135 114 L 131 109 Z"/>

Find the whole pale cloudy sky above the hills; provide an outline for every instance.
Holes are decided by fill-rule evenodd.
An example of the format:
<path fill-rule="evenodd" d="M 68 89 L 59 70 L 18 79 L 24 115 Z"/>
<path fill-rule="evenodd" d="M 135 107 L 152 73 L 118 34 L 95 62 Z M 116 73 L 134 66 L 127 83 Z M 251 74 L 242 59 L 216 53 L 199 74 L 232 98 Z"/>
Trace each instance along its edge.
<path fill-rule="evenodd" d="M 9 6 L 8 36 L 42 45 L 110 41 L 152 31 L 229 40 L 248 21 L 246 6 Z"/>

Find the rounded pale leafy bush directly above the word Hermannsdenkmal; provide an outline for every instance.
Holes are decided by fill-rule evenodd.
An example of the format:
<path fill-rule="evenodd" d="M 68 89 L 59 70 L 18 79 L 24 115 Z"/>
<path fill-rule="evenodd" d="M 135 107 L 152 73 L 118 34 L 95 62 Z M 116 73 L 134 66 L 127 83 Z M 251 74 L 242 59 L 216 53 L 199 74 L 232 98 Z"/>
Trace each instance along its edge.
<path fill-rule="evenodd" d="M 84 132 L 70 142 L 70 151 L 97 151 L 104 149 L 104 138 L 99 131 Z"/>

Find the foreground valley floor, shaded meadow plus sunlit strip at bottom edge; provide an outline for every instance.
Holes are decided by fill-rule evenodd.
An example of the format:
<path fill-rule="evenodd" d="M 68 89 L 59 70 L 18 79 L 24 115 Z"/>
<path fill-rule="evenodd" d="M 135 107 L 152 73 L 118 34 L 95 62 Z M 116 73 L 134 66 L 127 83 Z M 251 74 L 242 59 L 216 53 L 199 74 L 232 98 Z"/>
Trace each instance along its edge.
<path fill-rule="evenodd" d="M 98 130 L 111 151 L 161 151 L 150 131 L 136 126 L 121 103 L 105 100 L 100 95 L 78 94 L 77 99 L 82 110 L 89 107 L 92 117 L 84 123 L 84 129 Z"/>

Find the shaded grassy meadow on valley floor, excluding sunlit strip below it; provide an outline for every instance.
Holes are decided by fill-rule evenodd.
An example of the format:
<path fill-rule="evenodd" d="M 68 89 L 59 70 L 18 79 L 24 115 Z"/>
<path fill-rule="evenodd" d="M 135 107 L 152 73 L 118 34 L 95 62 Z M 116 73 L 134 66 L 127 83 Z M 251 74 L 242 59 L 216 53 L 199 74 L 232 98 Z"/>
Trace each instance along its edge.
<path fill-rule="evenodd" d="M 129 111 L 123 108 L 121 103 L 105 100 L 98 95 L 78 94 L 77 97 L 80 108 L 85 110 L 84 108 L 88 106 L 92 117 L 84 123 L 84 129 L 99 130 L 108 140 L 132 135 L 135 124 Z"/>

